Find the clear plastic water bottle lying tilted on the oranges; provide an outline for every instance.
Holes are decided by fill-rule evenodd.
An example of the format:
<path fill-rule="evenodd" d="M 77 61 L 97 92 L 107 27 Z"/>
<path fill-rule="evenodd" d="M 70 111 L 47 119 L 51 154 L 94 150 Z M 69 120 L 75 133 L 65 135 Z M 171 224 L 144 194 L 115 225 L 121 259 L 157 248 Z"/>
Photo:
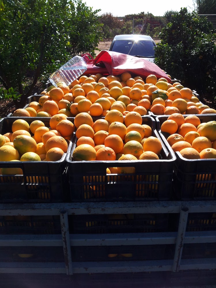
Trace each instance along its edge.
<path fill-rule="evenodd" d="M 88 60 L 89 58 L 86 54 L 82 56 L 74 56 L 71 60 L 50 75 L 50 82 L 56 87 L 58 82 L 65 82 L 68 86 L 87 70 L 86 63 Z"/>

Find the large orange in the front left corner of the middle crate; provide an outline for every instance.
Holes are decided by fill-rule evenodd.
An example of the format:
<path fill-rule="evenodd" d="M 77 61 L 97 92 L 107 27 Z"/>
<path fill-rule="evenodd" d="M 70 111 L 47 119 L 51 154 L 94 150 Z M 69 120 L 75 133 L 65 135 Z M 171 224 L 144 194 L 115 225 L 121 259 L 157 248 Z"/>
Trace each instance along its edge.
<path fill-rule="evenodd" d="M 94 161 L 96 160 L 96 151 L 89 144 L 81 144 L 74 149 L 72 158 L 74 161 Z"/>

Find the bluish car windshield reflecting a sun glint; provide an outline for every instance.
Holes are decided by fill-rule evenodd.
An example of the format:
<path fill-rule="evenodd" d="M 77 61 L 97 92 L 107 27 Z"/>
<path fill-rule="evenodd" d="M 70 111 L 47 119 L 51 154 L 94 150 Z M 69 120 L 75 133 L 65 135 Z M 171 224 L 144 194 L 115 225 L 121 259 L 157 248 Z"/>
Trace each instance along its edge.
<path fill-rule="evenodd" d="M 147 40 L 116 40 L 111 51 L 132 56 L 154 57 L 154 43 Z"/>

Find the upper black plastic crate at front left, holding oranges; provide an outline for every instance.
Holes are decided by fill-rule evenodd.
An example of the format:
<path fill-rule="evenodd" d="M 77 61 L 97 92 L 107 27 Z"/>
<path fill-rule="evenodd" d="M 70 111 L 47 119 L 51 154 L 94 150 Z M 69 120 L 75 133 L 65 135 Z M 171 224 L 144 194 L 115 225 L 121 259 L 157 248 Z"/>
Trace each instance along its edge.
<path fill-rule="evenodd" d="M 17 117 L 0 120 L 0 133 L 11 132 Z M 29 124 L 41 120 L 49 127 L 50 118 L 19 117 Z M 58 161 L 0 162 L 0 168 L 21 168 L 23 175 L 0 175 L 0 202 L 65 202 L 68 192 L 65 188 L 67 169 L 66 153 Z"/>

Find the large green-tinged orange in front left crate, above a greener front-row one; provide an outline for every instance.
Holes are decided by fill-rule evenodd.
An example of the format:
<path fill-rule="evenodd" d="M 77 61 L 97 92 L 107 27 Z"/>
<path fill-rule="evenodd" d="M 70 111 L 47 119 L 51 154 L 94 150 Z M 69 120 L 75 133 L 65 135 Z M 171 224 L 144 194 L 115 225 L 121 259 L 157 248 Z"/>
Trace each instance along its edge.
<path fill-rule="evenodd" d="M 14 148 L 18 150 L 20 156 L 26 152 L 35 152 L 37 150 L 37 143 L 31 136 L 18 135 L 13 142 Z"/>

